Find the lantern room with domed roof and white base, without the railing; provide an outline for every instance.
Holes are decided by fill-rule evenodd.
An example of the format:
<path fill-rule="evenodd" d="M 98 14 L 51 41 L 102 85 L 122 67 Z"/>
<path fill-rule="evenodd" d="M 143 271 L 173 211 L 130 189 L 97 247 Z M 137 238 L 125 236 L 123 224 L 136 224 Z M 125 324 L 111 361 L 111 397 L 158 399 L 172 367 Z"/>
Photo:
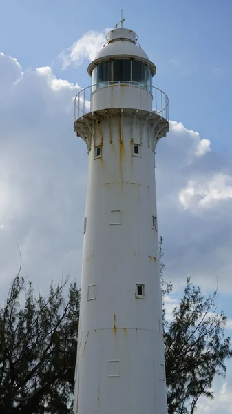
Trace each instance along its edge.
<path fill-rule="evenodd" d="M 89 64 L 88 73 L 92 78 L 94 110 L 119 107 L 152 110 L 152 77 L 156 66 L 137 43 L 133 30 L 111 30 L 96 59 Z"/>

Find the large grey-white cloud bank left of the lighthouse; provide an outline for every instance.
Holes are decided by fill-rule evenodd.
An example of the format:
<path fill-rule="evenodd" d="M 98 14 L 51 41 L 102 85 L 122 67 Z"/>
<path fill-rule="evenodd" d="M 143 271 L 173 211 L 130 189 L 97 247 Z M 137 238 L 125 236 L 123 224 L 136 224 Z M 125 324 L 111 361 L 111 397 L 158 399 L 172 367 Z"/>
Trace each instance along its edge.
<path fill-rule="evenodd" d="M 19 268 L 35 284 L 72 272 L 81 277 L 82 215 L 87 156 L 72 130 L 80 90 L 51 68 L 23 72 L 1 55 L 0 251 L 1 294 Z M 85 162 L 83 162 L 85 159 Z M 74 232 L 70 228 L 73 228 Z M 75 234 L 74 234 L 75 233 Z M 5 283 L 5 284 L 4 284 Z"/>

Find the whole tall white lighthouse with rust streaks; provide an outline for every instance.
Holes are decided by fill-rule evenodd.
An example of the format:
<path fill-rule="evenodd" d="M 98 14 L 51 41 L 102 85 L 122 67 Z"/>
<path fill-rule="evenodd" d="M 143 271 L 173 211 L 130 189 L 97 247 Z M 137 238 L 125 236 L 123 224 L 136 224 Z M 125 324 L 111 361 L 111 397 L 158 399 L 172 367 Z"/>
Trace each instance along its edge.
<path fill-rule="evenodd" d="M 115 28 L 76 95 L 89 156 L 76 414 L 167 414 L 154 153 L 168 98 L 136 34 Z"/>

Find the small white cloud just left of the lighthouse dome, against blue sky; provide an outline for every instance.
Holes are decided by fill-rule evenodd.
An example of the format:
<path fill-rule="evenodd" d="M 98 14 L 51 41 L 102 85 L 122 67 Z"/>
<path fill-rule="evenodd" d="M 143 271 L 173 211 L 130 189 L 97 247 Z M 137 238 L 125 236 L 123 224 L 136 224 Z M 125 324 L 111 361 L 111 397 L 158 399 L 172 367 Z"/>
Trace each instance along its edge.
<path fill-rule="evenodd" d="M 70 65 L 80 66 L 84 59 L 94 60 L 97 52 L 106 42 L 105 35 L 109 30 L 105 29 L 103 32 L 89 30 L 89 32 L 83 34 L 81 39 L 78 39 L 70 48 L 61 52 L 59 57 L 62 61 L 62 68 L 66 69 Z"/>

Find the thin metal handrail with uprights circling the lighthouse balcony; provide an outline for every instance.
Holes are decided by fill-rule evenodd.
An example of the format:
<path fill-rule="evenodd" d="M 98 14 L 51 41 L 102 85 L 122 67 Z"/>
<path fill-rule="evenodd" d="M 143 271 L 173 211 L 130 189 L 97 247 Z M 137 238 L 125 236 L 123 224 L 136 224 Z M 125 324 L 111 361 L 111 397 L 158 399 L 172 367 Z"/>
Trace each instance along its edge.
<path fill-rule="evenodd" d="M 101 85 L 101 86 L 99 86 Z M 74 99 L 74 122 L 76 119 L 82 117 L 83 115 L 92 112 L 92 102 L 91 102 L 91 96 L 94 92 L 96 92 L 99 89 L 107 88 L 108 86 L 136 86 L 139 90 L 147 90 L 149 93 L 151 93 L 152 99 L 155 103 L 155 108 L 153 108 L 152 112 L 156 112 L 157 115 L 160 115 L 161 117 L 169 120 L 169 98 L 165 94 L 165 92 L 162 92 L 161 89 L 156 88 L 156 86 L 151 85 L 143 85 L 141 86 L 141 83 L 139 82 L 131 82 L 131 81 L 110 81 L 110 82 L 101 82 L 101 83 L 94 83 L 94 85 L 87 86 L 86 88 L 80 90 L 76 94 L 76 97 Z M 89 95 L 89 98 L 86 98 L 86 95 Z M 164 107 L 163 107 L 164 105 Z M 140 108 L 135 108 L 140 109 Z"/>

